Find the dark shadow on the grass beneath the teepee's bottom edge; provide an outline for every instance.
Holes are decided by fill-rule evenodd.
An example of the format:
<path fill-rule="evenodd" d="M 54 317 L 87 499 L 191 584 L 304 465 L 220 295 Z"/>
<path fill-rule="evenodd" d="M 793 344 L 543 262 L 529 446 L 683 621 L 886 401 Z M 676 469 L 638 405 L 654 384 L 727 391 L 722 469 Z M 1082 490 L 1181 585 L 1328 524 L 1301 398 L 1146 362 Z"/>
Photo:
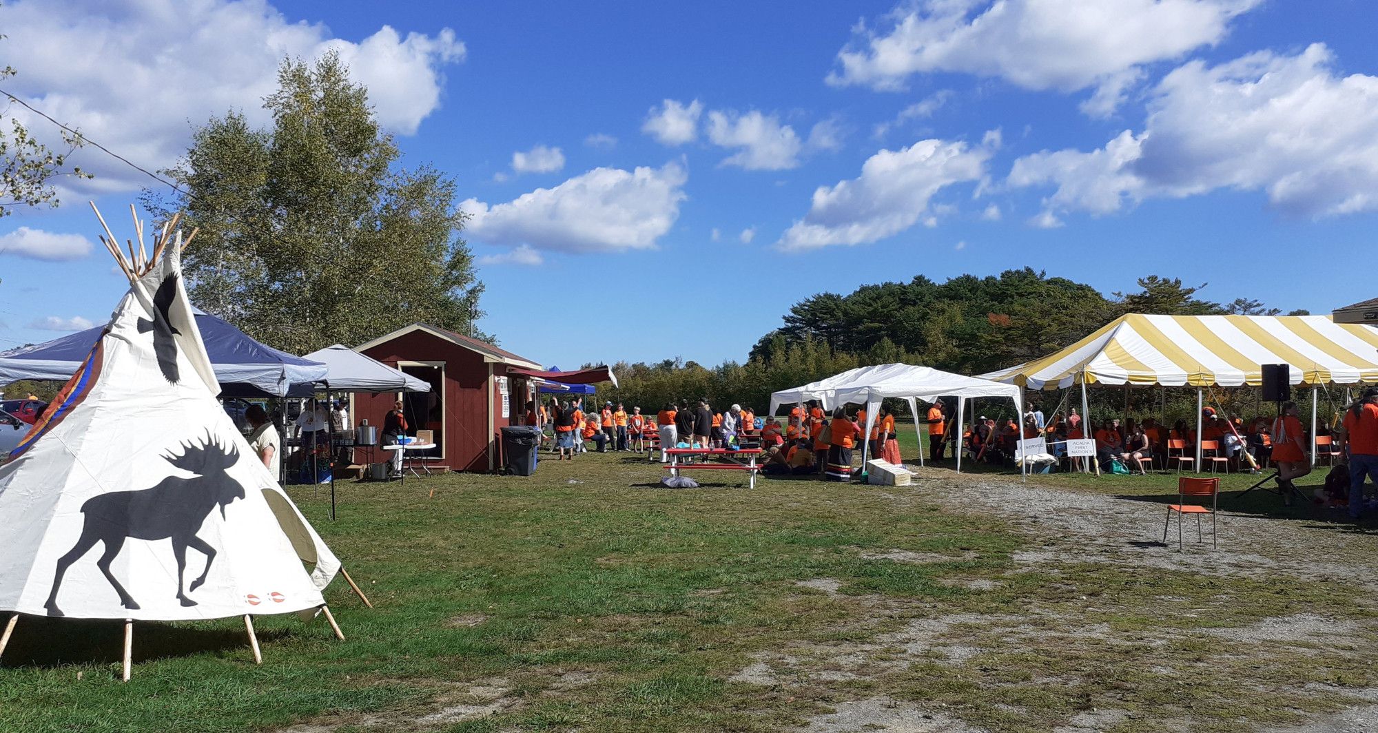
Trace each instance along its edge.
<path fill-rule="evenodd" d="M 227 653 L 247 654 L 248 634 L 229 628 L 135 621 L 132 660 Z M 259 643 L 289 637 L 287 630 L 258 630 Z M 65 664 L 119 664 L 124 659 L 124 621 L 109 619 L 47 619 L 19 616 L 3 667 L 61 667 Z"/>

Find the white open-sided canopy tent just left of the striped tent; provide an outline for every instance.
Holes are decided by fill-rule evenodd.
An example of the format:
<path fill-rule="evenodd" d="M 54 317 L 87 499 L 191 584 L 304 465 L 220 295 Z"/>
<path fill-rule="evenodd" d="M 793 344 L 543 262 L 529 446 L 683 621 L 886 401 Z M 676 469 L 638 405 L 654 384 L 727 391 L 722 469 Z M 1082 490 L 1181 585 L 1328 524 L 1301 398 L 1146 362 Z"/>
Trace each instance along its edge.
<path fill-rule="evenodd" d="M 808 400 L 817 400 L 825 411 L 839 405 L 865 405 L 865 427 L 863 435 L 871 434 L 881 401 L 897 398 L 909 401 L 909 412 L 914 413 L 914 431 L 919 435 L 919 464 L 923 464 L 923 434 L 919 430 L 918 400 L 932 402 L 938 397 L 956 397 L 956 433 L 962 434 L 962 417 L 966 411 L 966 401 L 977 397 L 1010 398 L 1014 401 L 1016 415 L 1024 413 L 1022 390 L 1014 384 L 1002 384 L 989 379 L 976 376 L 962 376 L 943 372 L 932 366 L 912 366 L 909 364 L 881 364 L 876 366 L 861 366 L 849 369 L 839 375 L 810 382 L 791 390 L 780 390 L 770 395 L 770 413 L 780 405 L 802 404 Z M 863 445 L 861 463 L 865 464 L 870 451 L 870 441 Z M 962 470 L 962 446 L 956 451 L 956 468 Z M 1020 462 L 1020 471 L 1027 473 L 1025 462 Z"/>

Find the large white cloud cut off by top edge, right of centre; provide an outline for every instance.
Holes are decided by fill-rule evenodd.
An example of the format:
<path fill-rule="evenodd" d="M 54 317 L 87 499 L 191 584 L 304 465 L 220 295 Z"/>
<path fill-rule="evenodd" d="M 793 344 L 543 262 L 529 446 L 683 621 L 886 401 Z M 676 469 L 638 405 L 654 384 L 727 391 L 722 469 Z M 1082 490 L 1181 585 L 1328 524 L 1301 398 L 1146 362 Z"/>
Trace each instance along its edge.
<path fill-rule="evenodd" d="M 1105 113 L 1141 65 L 1218 43 L 1262 0 L 919 0 L 864 25 L 827 81 L 901 90 L 912 74 L 1002 77 L 1027 90 L 1100 87 Z M 1130 74 L 1130 76 L 1126 76 Z"/>

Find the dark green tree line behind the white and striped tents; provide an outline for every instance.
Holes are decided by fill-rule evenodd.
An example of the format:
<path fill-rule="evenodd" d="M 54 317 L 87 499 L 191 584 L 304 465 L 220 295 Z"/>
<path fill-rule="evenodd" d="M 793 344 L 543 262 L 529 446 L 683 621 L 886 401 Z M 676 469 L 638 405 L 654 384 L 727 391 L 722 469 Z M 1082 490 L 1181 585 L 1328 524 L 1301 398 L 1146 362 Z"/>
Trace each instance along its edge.
<path fill-rule="evenodd" d="M 1282 314 L 1247 298 L 1203 299 L 1204 287 L 1146 276 L 1138 291 L 1107 296 L 1091 285 L 1024 267 L 941 284 L 918 276 L 847 295 L 824 292 L 791 306 L 783 325 L 763 335 L 744 362 L 620 362 L 613 365 L 620 386 L 605 384 L 595 398 L 655 412 L 670 401 L 707 397 L 715 408 L 740 404 L 763 413 L 772 393 L 857 366 L 904 362 L 969 375 L 1013 366 L 1064 349 L 1127 313 Z"/>

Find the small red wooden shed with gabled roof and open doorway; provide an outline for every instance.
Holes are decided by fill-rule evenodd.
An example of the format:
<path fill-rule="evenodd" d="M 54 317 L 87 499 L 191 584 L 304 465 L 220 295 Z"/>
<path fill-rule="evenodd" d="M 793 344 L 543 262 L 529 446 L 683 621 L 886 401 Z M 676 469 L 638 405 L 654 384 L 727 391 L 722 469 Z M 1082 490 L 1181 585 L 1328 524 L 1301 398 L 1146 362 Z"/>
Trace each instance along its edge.
<path fill-rule="evenodd" d="M 393 402 L 402 400 L 408 433 L 434 433 L 435 449 L 420 456 L 453 471 L 500 466 L 499 429 L 518 424 L 529 400 L 528 379 L 508 369 L 540 369 L 511 351 L 427 324 L 400 328 L 357 350 L 429 382 L 431 391 L 357 394 L 354 419 L 382 426 Z"/>

